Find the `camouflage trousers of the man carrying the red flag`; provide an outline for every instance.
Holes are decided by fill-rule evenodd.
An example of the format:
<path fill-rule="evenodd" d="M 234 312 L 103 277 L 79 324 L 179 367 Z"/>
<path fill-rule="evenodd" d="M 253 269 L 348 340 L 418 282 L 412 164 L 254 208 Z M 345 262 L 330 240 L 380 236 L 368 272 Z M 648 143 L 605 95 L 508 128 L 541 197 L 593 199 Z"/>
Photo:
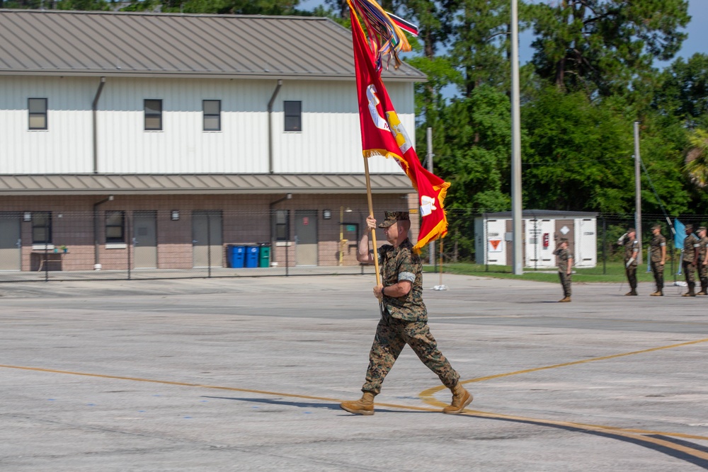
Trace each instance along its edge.
<path fill-rule="evenodd" d="M 428 369 L 440 377 L 440 381 L 447 388 L 452 388 L 459 380 L 459 374 L 452 369 L 442 352 L 438 350 L 438 343 L 430 334 L 430 328 L 425 321 L 405 321 L 390 316 L 379 321 L 376 327 L 374 343 L 369 353 L 369 368 L 366 371 L 366 381 L 361 390 L 378 395 L 381 384 L 394 366 L 407 344 L 411 346 L 418 359 L 428 366 Z"/>

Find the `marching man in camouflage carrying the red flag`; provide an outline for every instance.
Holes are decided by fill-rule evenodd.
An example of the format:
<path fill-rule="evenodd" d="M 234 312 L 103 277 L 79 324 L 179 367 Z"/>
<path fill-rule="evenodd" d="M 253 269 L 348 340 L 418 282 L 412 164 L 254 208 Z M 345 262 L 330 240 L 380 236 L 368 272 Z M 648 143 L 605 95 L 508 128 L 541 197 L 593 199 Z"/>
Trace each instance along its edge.
<path fill-rule="evenodd" d="M 379 248 L 383 283 L 374 287 L 374 297 L 382 303 L 381 319 L 369 352 L 369 367 L 361 388 L 363 395 L 359 400 L 343 401 L 340 406 L 355 415 L 373 415 L 374 397 L 381 391 L 381 384 L 407 344 L 452 391 L 452 403 L 442 408 L 442 413 L 462 413 L 472 402 L 472 395 L 462 386 L 459 374 L 438 350 L 438 343 L 430 334 L 428 311 L 423 303 L 423 263 L 413 252 L 408 238 L 411 229 L 408 212 L 386 212 L 379 228 L 384 229 L 389 242 Z M 375 229 L 376 220 L 367 217 L 366 231 L 357 249 L 360 263 L 374 263 L 369 251 L 369 234 Z"/>

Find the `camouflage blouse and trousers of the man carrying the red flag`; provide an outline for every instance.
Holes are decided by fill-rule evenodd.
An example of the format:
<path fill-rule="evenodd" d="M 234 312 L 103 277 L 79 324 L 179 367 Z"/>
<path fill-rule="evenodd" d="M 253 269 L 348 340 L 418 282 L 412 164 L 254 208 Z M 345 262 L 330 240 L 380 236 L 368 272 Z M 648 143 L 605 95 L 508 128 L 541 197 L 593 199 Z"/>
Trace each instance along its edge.
<path fill-rule="evenodd" d="M 423 264 L 419 255 L 413 252 L 413 244 L 406 239 L 398 248 L 384 245 L 379 249 L 379 265 L 384 287 L 402 280 L 411 282 L 411 291 L 404 297 L 382 299 L 382 319 L 376 328 L 374 343 L 369 353 L 369 368 L 363 392 L 377 395 L 389 370 L 407 344 L 440 377 L 442 384 L 453 388 L 459 374 L 452 369 L 438 343 L 428 328 L 428 311 L 423 303 Z"/>

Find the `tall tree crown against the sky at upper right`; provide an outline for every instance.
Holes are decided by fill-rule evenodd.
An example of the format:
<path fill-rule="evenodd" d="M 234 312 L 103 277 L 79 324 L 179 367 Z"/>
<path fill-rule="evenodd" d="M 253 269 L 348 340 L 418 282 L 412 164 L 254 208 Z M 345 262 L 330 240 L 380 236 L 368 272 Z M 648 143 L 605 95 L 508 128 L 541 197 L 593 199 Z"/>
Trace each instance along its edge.
<path fill-rule="evenodd" d="M 686 37 L 687 0 L 560 0 L 532 6 L 533 63 L 569 90 L 611 96 L 669 60 Z"/>

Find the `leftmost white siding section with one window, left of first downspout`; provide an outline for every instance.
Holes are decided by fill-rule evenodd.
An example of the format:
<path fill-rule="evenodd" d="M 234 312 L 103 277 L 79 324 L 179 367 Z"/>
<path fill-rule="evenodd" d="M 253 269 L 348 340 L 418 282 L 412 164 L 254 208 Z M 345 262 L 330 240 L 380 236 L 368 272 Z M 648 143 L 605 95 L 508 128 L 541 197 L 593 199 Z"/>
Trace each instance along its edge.
<path fill-rule="evenodd" d="M 0 78 L 1 172 L 91 172 L 96 88 L 98 79 Z M 47 98 L 47 130 L 28 129 L 28 98 Z"/>

